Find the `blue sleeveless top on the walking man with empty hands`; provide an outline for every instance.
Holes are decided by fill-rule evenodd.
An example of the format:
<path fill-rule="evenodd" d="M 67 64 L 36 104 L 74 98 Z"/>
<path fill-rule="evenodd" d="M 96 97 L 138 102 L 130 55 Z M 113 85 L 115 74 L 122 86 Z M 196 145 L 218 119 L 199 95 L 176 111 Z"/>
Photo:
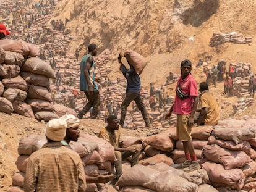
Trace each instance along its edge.
<path fill-rule="evenodd" d="M 89 57 L 91 57 L 90 54 L 83 56 L 82 61 L 80 62 L 80 87 L 79 87 L 80 91 L 89 91 L 89 86 L 85 78 L 85 67 L 87 65 L 87 59 Z M 93 91 L 98 91 L 98 86 L 95 83 L 94 69 L 95 69 L 95 64 L 93 60 L 93 64 L 89 70 L 89 80 L 93 85 Z"/>

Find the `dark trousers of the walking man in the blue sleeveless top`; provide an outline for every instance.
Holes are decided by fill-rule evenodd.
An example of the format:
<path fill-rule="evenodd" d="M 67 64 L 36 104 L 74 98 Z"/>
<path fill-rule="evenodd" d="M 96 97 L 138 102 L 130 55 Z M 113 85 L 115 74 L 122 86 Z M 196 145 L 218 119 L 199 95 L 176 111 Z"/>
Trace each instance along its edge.
<path fill-rule="evenodd" d="M 89 96 L 89 91 L 85 91 L 85 96 L 88 99 L 87 104 L 83 107 L 83 109 L 79 112 L 78 117 L 79 119 L 83 117 L 90 109 L 92 109 L 92 119 L 96 119 L 98 112 L 99 112 L 99 107 L 100 107 L 100 93 L 99 91 L 93 91 L 92 96 Z"/>

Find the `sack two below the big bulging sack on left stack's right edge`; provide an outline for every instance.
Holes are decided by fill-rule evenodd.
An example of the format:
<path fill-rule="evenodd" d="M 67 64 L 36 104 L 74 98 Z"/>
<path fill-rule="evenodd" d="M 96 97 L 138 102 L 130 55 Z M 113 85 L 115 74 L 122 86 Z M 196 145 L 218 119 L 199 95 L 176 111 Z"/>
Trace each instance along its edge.
<path fill-rule="evenodd" d="M 28 98 L 30 99 L 42 99 L 51 102 L 51 95 L 44 86 L 29 85 Z"/>

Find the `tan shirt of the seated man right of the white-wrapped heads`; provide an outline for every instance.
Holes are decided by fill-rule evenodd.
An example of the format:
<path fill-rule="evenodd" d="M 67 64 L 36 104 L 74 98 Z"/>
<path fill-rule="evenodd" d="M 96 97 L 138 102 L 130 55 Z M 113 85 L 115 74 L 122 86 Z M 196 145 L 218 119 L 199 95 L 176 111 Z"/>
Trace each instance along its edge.
<path fill-rule="evenodd" d="M 113 135 L 111 132 L 106 130 L 106 128 L 103 128 L 100 130 L 99 137 L 108 141 L 108 143 L 110 143 L 114 148 L 120 148 L 120 144 L 123 142 L 119 130 L 115 130 Z"/>

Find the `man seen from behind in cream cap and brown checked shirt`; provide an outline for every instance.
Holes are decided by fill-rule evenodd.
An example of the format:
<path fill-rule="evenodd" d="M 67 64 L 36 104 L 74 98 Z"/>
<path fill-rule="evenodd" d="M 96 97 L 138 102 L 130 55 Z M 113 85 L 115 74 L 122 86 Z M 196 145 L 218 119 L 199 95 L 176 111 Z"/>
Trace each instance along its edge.
<path fill-rule="evenodd" d="M 28 158 L 24 191 L 85 191 L 85 172 L 79 154 L 64 146 L 67 122 L 52 119 L 46 125 L 48 142 Z"/>

